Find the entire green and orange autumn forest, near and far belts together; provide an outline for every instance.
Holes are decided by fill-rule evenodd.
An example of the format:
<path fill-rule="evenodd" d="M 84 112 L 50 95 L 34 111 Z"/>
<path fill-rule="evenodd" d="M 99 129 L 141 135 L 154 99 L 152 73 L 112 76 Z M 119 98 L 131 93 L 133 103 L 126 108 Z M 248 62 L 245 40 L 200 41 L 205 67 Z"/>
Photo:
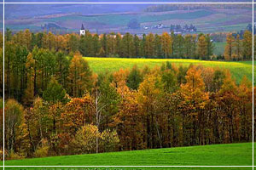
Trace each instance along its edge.
<path fill-rule="evenodd" d="M 247 36 L 252 34 L 245 34 L 243 40 L 229 34 L 224 55 L 237 58 L 234 54 L 240 53 L 234 44 L 241 41 L 241 56 L 251 58 L 252 40 Z M 160 42 L 154 43 L 158 38 Z M 96 74 L 82 57 L 135 57 L 142 52 L 152 57 L 160 46 L 156 51 L 169 58 L 172 38 L 167 33 L 148 34 L 143 40 L 129 33 L 113 37 L 87 31 L 79 37 L 8 30 L 6 158 L 251 141 L 253 84 L 247 77 L 236 84 L 227 70 L 169 62 L 153 69 L 134 65 L 131 70 Z M 201 35 L 194 51 L 177 48 L 177 54 L 189 57 L 203 52 L 204 58 L 207 39 Z"/>

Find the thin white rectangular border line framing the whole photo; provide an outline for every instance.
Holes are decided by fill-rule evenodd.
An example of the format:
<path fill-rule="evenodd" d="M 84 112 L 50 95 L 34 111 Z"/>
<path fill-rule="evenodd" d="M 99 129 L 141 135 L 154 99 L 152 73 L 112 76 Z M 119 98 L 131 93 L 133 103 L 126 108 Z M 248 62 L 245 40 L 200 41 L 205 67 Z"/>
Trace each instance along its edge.
<path fill-rule="evenodd" d="M 29 0 L 27 0 L 29 1 Z M 50 1 L 50 0 L 49 0 Z M 111 0 L 110 0 L 111 1 Z M 121 1 L 121 0 L 120 0 Z M 251 3 L 249 2 L 245 2 L 245 3 L 166 3 L 166 2 L 162 2 L 162 3 L 154 3 L 154 2 L 145 2 L 146 4 L 252 4 L 252 10 L 254 9 L 254 0 L 252 0 Z M 3 0 L 3 3 L 1 2 L 0 4 L 3 4 L 3 82 L 4 82 L 4 38 L 5 38 L 5 25 L 4 25 L 4 20 L 5 20 L 5 4 L 145 4 L 145 3 L 136 3 L 136 2 L 132 2 L 132 3 L 108 3 L 108 2 L 104 2 L 104 3 L 54 3 L 54 2 L 49 2 L 49 3 L 5 3 L 5 0 Z M 256 4 L 256 2 L 255 2 Z M 254 26 L 254 10 L 253 12 L 253 26 Z M 253 29 L 253 35 L 254 35 L 254 29 Z M 254 36 L 253 36 L 254 37 Z M 254 41 L 254 38 L 253 38 Z M 254 48 L 254 47 L 253 47 Z M 253 67 L 254 67 L 254 54 L 253 54 Z M 254 71 L 254 69 L 253 69 Z M 254 84 L 254 75 L 253 75 L 253 84 Z M 4 134 L 4 83 L 3 83 L 3 134 Z M 253 94 L 254 95 L 254 94 Z M 253 100 L 254 103 L 254 100 Z M 254 108 L 253 108 L 253 122 L 254 122 Z M 254 143 L 254 123 L 253 123 L 253 143 Z M 253 154 L 254 154 L 254 150 L 253 150 Z M 3 135 L 3 166 L 1 165 L 0 167 L 256 167 L 254 166 L 254 163 L 252 162 L 252 166 L 5 166 L 4 165 L 4 135 Z"/>

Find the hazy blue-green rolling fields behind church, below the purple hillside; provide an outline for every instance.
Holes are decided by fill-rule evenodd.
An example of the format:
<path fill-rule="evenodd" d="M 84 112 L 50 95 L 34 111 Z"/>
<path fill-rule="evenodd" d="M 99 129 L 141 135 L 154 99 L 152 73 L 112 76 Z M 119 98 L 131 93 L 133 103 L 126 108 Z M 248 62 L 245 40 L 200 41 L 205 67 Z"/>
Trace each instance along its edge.
<path fill-rule="evenodd" d="M 236 13 L 233 11 L 236 10 Z M 62 16 L 52 15 L 49 17 L 27 18 L 22 20 L 6 20 L 6 27 L 19 31 L 30 28 L 32 31 L 43 31 L 41 26 L 46 23 L 55 23 L 58 26 L 67 28 L 66 31 L 79 32 L 80 26 L 84 23 L 86 29 L 99 33 L 103 32 L 131 32 L 162 33 L 170 31 L 165 29 L 144 30 L 143 26 L 155 26 L 160 23 L 171 26 L 193 24 L 199 32 L 210 33 L 218 31 L 240 31 L 244 30 L 248 23 L 252 22 L 251 9 L 195 9 L 177 10 L 169 12 L 137 12 L 137 13 L 115 13 L 115 14 L 66 14 Z M 141 24 L 140 29 L 129 29 L 127 24 L 131 19 L 137 19 Z"/>

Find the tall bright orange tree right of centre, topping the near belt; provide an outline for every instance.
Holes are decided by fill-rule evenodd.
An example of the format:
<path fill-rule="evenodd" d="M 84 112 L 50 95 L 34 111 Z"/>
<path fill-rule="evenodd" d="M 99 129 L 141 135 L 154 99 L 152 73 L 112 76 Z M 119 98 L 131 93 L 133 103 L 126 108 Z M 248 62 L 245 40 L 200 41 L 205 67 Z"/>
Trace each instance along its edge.
<path fill-rule="evenodd" d="M 207 105 L 208 94 L 205 93 L 205 84 L 201 77 L 201 71 L 196 70 L 195 66 L 192 66 L 187 72 L 186 84 L 181 86 L 181 92 L 183 94 L 183 108 L 185 109 L 183 114 L 188 117 L 186 126 L 183 127 L 186 130 L 192 129 L 191 139 L 188 141 L 190 144 L 201 144 L 202 133 L 204 131 L 201 122 L 204 120 L 204 108 Z M 199 125 L 199 126 L 198 126 Z M 199 130 L 199 131 L 198 131 Z M 198 139 L 198 141 L 197 141 Z"/>

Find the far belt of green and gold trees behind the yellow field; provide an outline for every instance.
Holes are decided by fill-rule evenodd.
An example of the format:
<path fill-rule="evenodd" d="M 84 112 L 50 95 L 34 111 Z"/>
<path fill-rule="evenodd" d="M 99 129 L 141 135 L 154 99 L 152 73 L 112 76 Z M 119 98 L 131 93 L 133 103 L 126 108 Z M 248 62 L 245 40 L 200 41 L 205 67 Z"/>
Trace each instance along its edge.
<path fill-rule="evenodd" d="M 126 33 L 54 35 L 51 32 L 32 33 L 29 30 L 12 34 L 7 30 L 7 46 L 18 46 L 32 52 L 33 48 L 49 49 L 64 54 L 80 52 L 91 57 L 158 58 L 158 59 L 252 59 L 253 35 L 245 31 L 243 39 L 227 36 L 227 50 L 223 55 L 213 54 L 214 43 L 210 35 L 162 35 L 148 34 L 143 37 Z M 236 55 L 235 55 L 236 53 Z"/>

